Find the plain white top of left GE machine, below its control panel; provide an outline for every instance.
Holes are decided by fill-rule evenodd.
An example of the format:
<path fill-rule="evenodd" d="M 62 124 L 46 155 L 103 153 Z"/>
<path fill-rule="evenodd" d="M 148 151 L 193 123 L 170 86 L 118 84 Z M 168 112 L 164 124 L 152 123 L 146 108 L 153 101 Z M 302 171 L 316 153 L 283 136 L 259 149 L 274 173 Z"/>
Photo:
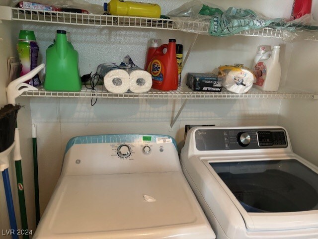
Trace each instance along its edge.
<path fill-rule="evenodd" d="M 180 172 L 65 176 L 35 238 L 215 238 Z"/>

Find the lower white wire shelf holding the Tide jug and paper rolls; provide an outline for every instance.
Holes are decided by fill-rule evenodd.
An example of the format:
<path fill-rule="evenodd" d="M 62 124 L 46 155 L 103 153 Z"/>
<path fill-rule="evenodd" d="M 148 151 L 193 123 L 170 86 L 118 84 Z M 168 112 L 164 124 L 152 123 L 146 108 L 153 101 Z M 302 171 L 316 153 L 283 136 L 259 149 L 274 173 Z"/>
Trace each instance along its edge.
<path fill-rule="evenodd" d="M 27 91 L 22 96 L 30 97 L 97 97 L 97 98 L 136 98 L 136 99 L 317 99 L 318 94 L 308 92 L 290 92 L 286 89 L 279 91 L 260 91 L 251 88 L 245 94 L 236 94 L 226 89 L 222 92 L 205 92 L 205 91 L 192 91 L 187 86 L 180 86 L 177 90 L 160 91 L 151 89 L 146 93 L 122 93 L 115 94 L 108 92 L 104 86 L 99 85 L 96 91 L 87 89 L 85 86 L 79 92 L 62 92 L 62 91 L 46 91 L 42 86 L 38 91 Z"/>

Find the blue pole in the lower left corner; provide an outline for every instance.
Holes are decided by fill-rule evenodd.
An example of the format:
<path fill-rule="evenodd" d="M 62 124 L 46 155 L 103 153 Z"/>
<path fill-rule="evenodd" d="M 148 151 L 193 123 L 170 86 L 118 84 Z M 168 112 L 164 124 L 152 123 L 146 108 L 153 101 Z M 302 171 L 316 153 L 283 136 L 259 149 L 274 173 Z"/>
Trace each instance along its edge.
<path fill-rule="evenodd" d="M 8 213 L 9 213 L 10 227 L 11 227 L 11 230 L 13 230 L 12 231 L 13 234 L 11 234 L 11 236 L 12 236 L 12 239 L 19 239 L 17 235 L 18 230 L 16 226 L 10 179 L 9 179 L 9 173 L 7 168 L 2 171 L 2 177 L 3 177 L 4 191 L 5 191 L 6 205 L 8 207 Z"/>

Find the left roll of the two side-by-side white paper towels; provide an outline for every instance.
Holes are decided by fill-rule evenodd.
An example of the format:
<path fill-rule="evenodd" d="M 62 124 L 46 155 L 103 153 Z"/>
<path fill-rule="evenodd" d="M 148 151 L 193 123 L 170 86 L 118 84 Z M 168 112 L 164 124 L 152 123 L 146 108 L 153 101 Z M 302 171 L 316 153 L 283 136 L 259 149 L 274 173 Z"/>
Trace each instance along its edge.
<path fill-rule="evenodd" d="M 130 85 L 129 74 L 121 69 L 111 70 L 104 77 L 104 85 L 109 92 L 116 94 L 125 93 Z"/>

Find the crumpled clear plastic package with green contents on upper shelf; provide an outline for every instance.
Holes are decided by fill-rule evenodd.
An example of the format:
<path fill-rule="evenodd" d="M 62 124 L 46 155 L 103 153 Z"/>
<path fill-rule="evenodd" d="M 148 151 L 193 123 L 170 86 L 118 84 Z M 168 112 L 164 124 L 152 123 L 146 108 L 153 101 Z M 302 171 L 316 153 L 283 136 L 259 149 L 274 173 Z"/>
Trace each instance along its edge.
<path fill-rule="evenodd" d="M 261 30 L 284 21 L 284 18 L 270 19 L 251 9 L 222 7 L 211 2 L 193 0 L 167 14 L 177 27 L 186 32 L 230 36 L 243 30 Z"/>

